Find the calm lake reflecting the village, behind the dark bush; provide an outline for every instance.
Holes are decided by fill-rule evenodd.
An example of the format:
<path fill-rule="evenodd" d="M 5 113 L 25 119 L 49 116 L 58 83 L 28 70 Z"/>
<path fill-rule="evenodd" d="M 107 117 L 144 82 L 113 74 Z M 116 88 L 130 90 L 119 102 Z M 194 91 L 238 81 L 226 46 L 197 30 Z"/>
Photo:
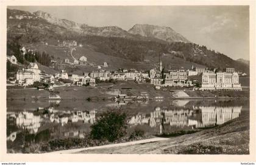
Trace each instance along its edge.
<path fill-rule="evenodd" d="M 84 100 L 7 100 L 7 147 L 18 150 L 22 141 L 34 143 L 59 138 L 84 138 L 97 116 L 108 109 L 127 113 L 128 132 L 169 135 L 218 126 L 249 110 L 248 99 L 171 99 L 140 103 Z M 26 136 L 24 136 L 26 131 Z"/>

